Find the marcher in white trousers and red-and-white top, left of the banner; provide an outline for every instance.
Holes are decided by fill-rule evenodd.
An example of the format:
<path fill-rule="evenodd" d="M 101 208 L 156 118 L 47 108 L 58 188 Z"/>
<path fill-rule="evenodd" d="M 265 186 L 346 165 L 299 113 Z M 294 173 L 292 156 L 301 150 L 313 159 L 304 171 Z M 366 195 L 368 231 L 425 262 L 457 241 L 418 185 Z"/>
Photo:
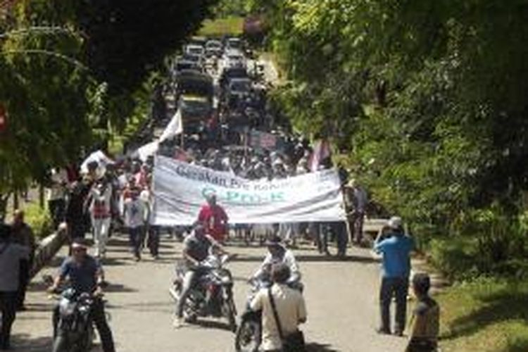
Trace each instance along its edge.
<path fill-rule="evenodd" d="M 96 246 L 96 258 L 104 257 L 106 253 L 106 241 L 108 241 L 108 231 L 111 225 L 111 198 L 111 185 L 98 180 L 89 195 L 89 212 Z"/>

